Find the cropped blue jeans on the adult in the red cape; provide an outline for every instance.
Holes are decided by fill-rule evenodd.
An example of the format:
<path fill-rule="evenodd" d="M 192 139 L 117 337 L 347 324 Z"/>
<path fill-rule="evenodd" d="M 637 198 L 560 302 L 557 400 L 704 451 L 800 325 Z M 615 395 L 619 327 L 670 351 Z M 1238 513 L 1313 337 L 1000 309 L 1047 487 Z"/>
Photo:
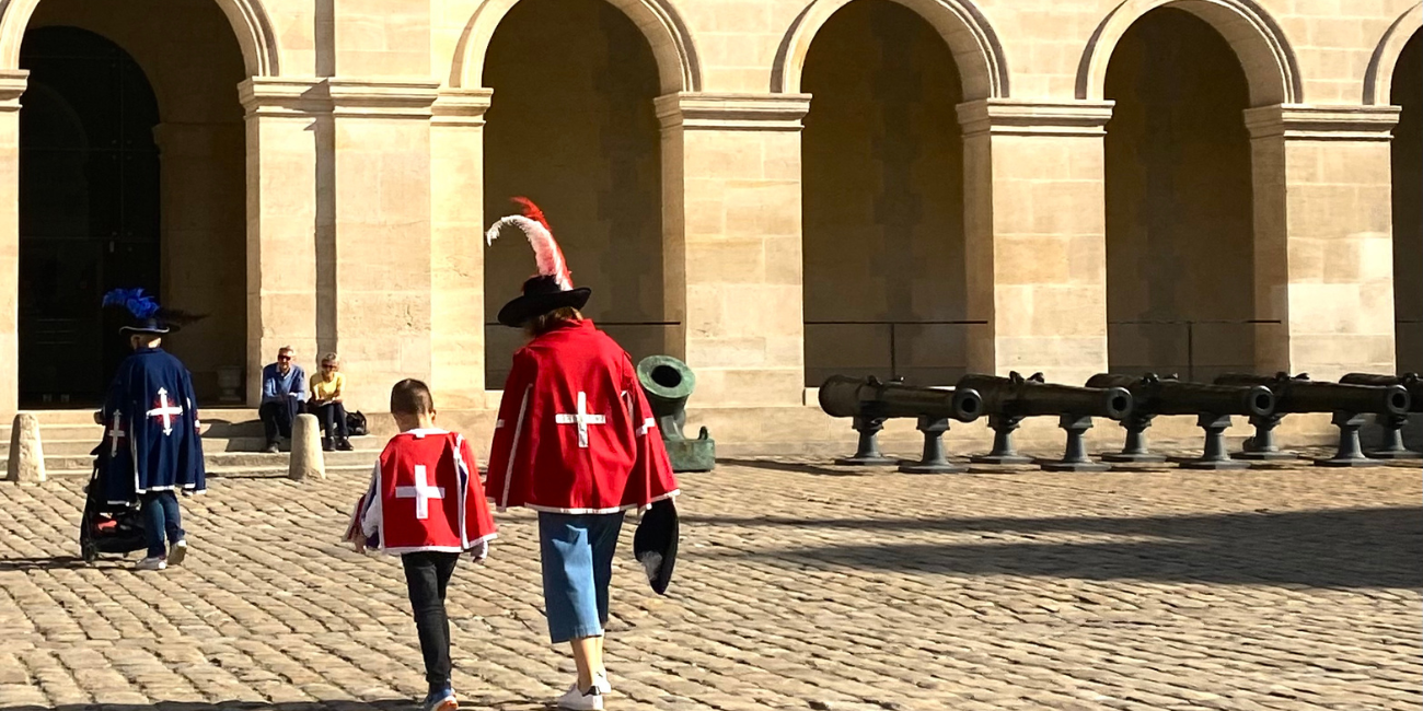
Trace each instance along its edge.
<path fill-rule="evenodd" d="M 603 634 L 622 519 L 622 512 L 539 512 L 544 609 L 554 644 Z"/>

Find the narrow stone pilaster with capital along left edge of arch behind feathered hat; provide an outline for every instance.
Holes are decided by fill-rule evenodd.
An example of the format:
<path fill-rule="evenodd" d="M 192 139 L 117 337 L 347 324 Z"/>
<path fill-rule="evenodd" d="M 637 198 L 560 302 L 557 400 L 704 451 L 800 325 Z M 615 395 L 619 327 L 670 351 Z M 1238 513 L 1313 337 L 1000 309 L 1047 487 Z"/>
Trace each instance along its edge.
<path fill-rule="evenodd" d="M 491 95 L 441 90 L 430 124 L 430 387 L 443 410 L 485 407 L 484 112 Z"/>

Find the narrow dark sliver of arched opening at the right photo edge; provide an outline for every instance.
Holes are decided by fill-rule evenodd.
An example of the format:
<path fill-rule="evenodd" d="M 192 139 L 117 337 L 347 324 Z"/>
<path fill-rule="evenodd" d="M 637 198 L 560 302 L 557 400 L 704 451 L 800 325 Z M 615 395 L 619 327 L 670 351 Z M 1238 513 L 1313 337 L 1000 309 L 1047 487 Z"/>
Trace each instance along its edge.
<path fill-rule="evenodd" d="M 1389 101 L 1393 129 L 1393 299 L 1399 373 L 1423 373 L 1423 37 L 1403 47 Z"/>

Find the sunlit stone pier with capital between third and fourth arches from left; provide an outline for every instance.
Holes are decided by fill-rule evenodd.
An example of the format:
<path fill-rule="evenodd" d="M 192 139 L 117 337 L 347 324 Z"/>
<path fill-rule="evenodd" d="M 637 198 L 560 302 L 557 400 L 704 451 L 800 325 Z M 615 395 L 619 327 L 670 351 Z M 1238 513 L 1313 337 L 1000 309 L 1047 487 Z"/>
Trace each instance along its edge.
<path fill-rule="evenodd" d="M 969 370 L 1081 384 L 1107 370 L 1110 101 L 959 105 Z M 946 274 L 956 279 L 958 274 Z"/>

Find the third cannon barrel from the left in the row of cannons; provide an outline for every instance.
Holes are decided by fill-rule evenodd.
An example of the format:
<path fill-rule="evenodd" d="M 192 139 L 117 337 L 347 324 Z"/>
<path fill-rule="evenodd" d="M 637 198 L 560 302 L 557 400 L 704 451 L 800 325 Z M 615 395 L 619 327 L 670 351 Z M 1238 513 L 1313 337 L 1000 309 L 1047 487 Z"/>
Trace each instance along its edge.
<path fill-rule="evenodd" d="M 1131 408 L 1138 417 L 1148 415 L 1252 415 L 1269 417 L 1275 411 L 1275 395 L 1264 385 L 1207 385 L 1158 378 L 1153 374 L 1137 378 L 1114 373 L 1100 373 L 1087 380 L 1089 388 L 1126 388 L 1131 392 Z"/>

